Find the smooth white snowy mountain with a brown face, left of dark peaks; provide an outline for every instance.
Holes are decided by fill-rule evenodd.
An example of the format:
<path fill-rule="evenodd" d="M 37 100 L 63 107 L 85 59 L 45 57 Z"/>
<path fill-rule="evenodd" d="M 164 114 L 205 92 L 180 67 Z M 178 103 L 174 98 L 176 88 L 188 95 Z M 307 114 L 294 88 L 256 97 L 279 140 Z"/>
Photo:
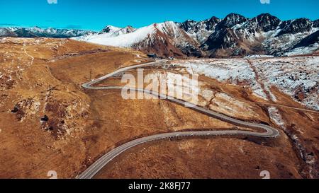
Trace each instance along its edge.
<path fill-rule="evenodd" d="M 84 40 L 101 45 L 116 47 L 131 47 L 144 52 L 154 52 L 162 56 L 200 56 L 198 42 L 189 37 L 184 30 L 172 22 L 153 23 L 138 30 L 127 28 L 109 28 L 99 35 L 76 37 L 75 40 Z M 121 31 L 122 33 L 118 33 Z M 125 33 L 123 33 L 123 31 Z"/>

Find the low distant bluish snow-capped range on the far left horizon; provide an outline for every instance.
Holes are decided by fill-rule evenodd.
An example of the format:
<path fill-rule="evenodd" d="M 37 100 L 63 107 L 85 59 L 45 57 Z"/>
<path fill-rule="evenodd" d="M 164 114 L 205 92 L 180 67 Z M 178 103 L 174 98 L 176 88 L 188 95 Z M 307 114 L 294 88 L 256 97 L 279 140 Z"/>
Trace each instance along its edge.
<path fill-rule="evenodd" d="M 69 38 L 94 34 L 89 30 L 68 30 L 55 28 L 0 28 L 0 37 L 53 37 Z"/>

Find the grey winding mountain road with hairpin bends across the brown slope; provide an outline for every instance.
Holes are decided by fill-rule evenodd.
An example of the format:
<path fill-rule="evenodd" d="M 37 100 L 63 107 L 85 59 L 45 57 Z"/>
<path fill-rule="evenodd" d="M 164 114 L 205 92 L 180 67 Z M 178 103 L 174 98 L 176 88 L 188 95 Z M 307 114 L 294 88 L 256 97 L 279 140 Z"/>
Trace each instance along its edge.
<path fill-rule="evenodd" d="M 111 90 L 111 89 L 122 89 L 122 86 L 93 86 L 96 83 L 99 83 L 106 78 L 110 78 L 118 73 L 128 71 L 130 69 L 138 69 L 145 66 L 157 66 L 161 65 L 167 62 L 167 60 L 159 60 L 157 62 L 149 62 L 146 64 L 138 64 L 135 66 L 127 66 L 122 69 L 118 69 L 116 71 L 113 71 L 110 74 L 106 74 L 105 76 L 102 76 L 101 78 L 97 78 L 96 80 L 90 81 L 89 83 L 84 83 L 82 85 L 83 88 L 86 89 L 93 89 L 93 90 Z M 117 148 L 114 148 L 112 151 L 109 151 L 104 156 L 99 158 L 99 160 L 96 160 L 95 163 L 93 163 L 89 168 L 87 168 L 82 174 L 78 175 L 77 179 L 91 179 L 96 175 L 99 170 L 101 170 L 106 164 L 108 164 L 113 158 L 116 158 L 119 154 L 123 153 L 124 151 L 128 150 L 129 148 L 133 148 L 134 146 L 138 146 L 140 144 L 144 144 L 150 141 L 157 141 L 162 139 L 169 139 L 173 137 L 189 137 L 189 136 L 222 136 L 222 135 L 243 135 L 243 136 L 258 136 L 258 137 L 264 137 L 264 138 L 274 138 L 276 136 L 279 136 L 279 131 L 277 129 L 274 129 L 273 127 L 270 127 L 265 124 L 257 124 L 252 122 L 244 122 L 239 119 L 235 119 L 233 117 L 228 117 L 226 115 L 220 114 L 218 112 L 214 112 L 212 110 L 207 110 L 203 107 L 199 107 L 197 105 L 193 105 L 191 103 L 187 103 L 184 100 L 179 100 L 177 98 L 173 98 L 168 95 L 164 95 L 162 93 L 153 92 L 152 90 L 145 90 L 142 88 L 130 88 L 131 90 L 135 90 L 138 92 L 144 92 L 151 95 L 155 95 L 157 97 L 165 98 L 166 100 L 169 100 L 173 103 L 177 103 L 179 105 L 184 105 L 185 107 L 188 107 L 192 110 L 196 110 L 197 112 L 201 112 L 203 114 L 206 114 L 210 117 L 214 117 L 216 119 L 220 119 L 222 121 L 228 122 L 230 124 L 237 125 L 239 127 L 249 127 L 251 129 L 262 129 L 265 132 L 254 132 L 254 131 L 240 131 L 240 130 L 225 130 L 225 131 L 179 131 L 179 132 L 172 132 L 172 133 L 165 133 L 165 134 L 157 134 L 152 136 L 145 136 L 140 139 L 135 139 L 133 141 L 130 141 L 126 144 L 123 144 L 121 146 L 118 146 Z"/>

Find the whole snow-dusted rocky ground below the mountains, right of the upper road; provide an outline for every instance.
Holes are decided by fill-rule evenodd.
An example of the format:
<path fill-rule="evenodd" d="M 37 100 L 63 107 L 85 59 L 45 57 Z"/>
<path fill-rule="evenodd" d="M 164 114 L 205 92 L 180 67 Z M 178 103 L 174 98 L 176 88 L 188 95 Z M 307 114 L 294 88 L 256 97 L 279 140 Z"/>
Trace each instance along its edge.
<path fill-rule="evenodd" d="M 252 88 L 254 95 L 264 100 L 276 102 L 276 96 L 271 91 L 275 87 L 293 100 L 319 110 L 319 57 L 191 59 L 174 64 L 183 66 L 189 74 L 233 84 L 244 83 Z M 269 93 L 270 98 L 265 92 Z"/>

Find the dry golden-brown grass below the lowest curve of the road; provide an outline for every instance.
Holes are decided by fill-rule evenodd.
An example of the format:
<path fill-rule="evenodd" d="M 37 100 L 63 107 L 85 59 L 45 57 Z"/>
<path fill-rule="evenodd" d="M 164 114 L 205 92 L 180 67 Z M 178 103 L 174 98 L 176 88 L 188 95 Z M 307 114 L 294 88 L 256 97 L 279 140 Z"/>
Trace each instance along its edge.
<path fill-rule="evenodd" d="M 123 153 L 95 178 L 261 179 L 263 170 L 272 179 L 301 178 L 296 160 L 291 146 L 279 140 L 275 144 L 227 137 L 166 140 Z"/>

